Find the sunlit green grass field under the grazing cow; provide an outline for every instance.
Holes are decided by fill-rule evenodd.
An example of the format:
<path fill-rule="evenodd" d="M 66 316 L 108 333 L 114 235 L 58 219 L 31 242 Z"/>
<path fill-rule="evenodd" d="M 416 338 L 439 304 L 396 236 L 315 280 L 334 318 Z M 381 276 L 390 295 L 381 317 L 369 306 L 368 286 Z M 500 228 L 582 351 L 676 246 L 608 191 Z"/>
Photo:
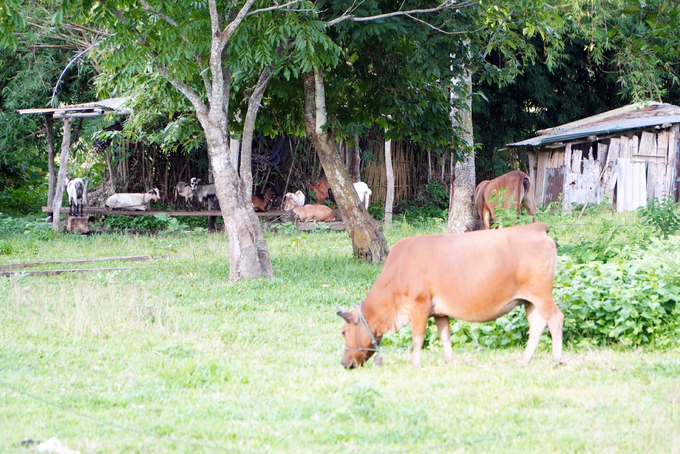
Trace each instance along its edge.
<path fill-rule="evenodd" d="M 550 221 L 561 244 L 593 235 Z M 397 348 L 382 368 L 343 369 L 334 305 L 360 300 L 382 269 L 354 261 L 344 232 L 268 233 L 277 278 L 236 283 L 219 234 L 1 240 L 3 264 L 169 254 L 0 278 L 3 453 L 53 436 L 82 453 L 680 451 L 677 341 L 567 345 L 555 366 L 546 331 L 527 367 L 522 348 L 465 344 L 453 364 L 434 345 L 419 369 Z"/>

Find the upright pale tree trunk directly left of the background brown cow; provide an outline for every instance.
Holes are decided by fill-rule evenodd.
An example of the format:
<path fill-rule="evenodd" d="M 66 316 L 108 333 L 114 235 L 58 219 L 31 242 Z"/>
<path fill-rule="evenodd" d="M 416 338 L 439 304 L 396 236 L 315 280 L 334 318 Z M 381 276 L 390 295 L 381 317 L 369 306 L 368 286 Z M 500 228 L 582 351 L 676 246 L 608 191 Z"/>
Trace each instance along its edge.
<path fill-rule="evenodd" d="M 468 108 L 456 112 L 451 111 L 454 124 L 465 130 L 466 158 L 456 162 L 451 159 L 451 198 L 449 202 L 449 233 L 462 233 L 472 224 L 472 213 L 475 196 L 475 154 L 473 150 L 474 138 L 472 134 L 472 74 L 465 72 L 463 79 L 454 83 L 465 84 L 466 103 Z M 460 122 L 456 119 L 456 114 Z"/>

